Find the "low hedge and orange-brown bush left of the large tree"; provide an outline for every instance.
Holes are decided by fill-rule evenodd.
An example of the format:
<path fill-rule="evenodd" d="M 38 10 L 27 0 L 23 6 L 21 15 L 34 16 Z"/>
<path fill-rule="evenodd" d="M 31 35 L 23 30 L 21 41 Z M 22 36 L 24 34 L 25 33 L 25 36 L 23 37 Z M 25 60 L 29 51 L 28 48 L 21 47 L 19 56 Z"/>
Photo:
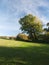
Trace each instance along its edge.
<path fill-rule="evenodd" d="M 25 34 L 18 34 L 17 36 L 0 36 L 0 39 L 7 39 L 7 40 L 29 40 L 28 36 Z"/>

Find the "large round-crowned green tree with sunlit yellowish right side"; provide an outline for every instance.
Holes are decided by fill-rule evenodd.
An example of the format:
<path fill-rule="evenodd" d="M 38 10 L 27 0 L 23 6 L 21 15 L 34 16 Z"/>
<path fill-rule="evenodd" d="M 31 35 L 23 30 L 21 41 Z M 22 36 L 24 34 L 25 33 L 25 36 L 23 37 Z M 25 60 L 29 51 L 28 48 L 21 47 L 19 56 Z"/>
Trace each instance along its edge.
<path fill-rule="evenodd" d="M 21 25 L 21 30 L 27 34 L 32 39 L 33 35 L 34 38 L 37 39 L 36 34 L 39 34 L 42 31 L 42 23 L 41 21 L 31 14 L 20 18 L 19 23 Z"/>

